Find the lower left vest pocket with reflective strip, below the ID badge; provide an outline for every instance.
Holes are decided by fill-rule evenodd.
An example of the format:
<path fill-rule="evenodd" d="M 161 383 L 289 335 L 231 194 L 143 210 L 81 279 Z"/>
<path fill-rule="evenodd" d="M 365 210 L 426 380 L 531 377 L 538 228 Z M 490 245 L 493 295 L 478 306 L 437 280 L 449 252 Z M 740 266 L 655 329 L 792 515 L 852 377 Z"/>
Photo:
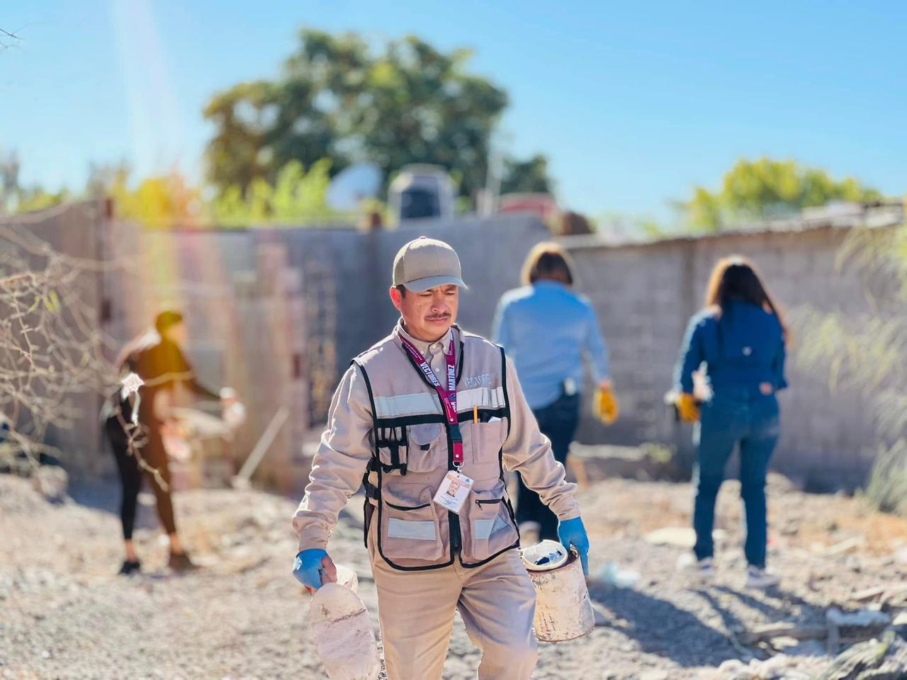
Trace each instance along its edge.
<path fill-rule="evenodd" d="M 439 559 L 444 546 L 431 490 L 417 484 L 411 486 L 412 491 L 381 491 L 381 553 L 391 560 Z"/>

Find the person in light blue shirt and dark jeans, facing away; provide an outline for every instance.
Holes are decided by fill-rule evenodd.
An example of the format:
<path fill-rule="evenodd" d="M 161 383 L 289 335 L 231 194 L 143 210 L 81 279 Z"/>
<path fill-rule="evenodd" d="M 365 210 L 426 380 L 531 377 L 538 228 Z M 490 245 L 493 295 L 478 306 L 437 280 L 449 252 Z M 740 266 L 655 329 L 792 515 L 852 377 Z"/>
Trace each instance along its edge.
<path fill-rule="evenodd" d="M 511 358 L 554 457 L 566 465 L 580 419 L 583 364 L 600 389 L 610 391 L 608 351 L 595 309 L 572 290 L 571 260 L 563 248 L 556 243 L 532 248 L 522 280 L 523 287 L 502 296 L 492 337 Z M 540 539 L 557 540 L 557 518 L 522 480 L 516 519 L 524 528 L 538 524 Z"/>

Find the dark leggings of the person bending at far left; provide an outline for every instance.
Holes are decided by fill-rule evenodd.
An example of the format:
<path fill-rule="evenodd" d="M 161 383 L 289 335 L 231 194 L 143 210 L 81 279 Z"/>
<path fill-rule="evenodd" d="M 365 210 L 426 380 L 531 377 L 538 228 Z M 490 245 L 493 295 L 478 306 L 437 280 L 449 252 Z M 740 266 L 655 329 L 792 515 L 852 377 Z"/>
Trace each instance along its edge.
<path fill-rule="evenodd" d="M 135 526 L 135 510 L 139 502 L 139 490 L 141 489 L 141 478 L 144 471 L 139 467 L 139 461 L 129 451 L 129 442 L 120 420 L 113 416 L 105 423 L 104 429 L 107 433 L 107 439 L 111 442 L 113 457 L 116 460 L 117 469 L 120 471 L 120 481 L 122 482 L 122 505 L 120 506 L 122 537 L 126 540 L 132 540 L 132 528 Z M 152 468 L 157 469 L 161 474 L 161 479 L 167 484 L 167 489 L 164 490 L 154 479 L 154 476 L 149 473 L 151 489 L 154 491 L 154 497 L 157 500 L 158 517 L 161 518 L 161 524 L 167 533 L 175 534 L 176 522 L 173 520 L 173 502 L 170 491 L 171 476 L 170 469 L 167 467 L 167 452 L 164 451 L 161 432 L 158 432 L 156 428 L 149 428 L 148 430 L 147 442 L 139 449 L 139 455 Z"/>

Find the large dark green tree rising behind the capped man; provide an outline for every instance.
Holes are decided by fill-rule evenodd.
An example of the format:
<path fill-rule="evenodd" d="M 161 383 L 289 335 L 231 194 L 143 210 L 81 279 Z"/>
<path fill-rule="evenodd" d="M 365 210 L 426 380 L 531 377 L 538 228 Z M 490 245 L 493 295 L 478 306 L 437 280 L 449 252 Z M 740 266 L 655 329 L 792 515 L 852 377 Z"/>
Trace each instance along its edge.
<path fill-rule="evenodd" d="M 215 126 L 209 179 L 226 196 L 256 180 L 274 185 L 293 160 L 311 167 L 329 159 L 331 172 L 371 160 L 385 180 L 409 163 L 434 163 L 451 172 L 463 196 L 473 196 L 484 184 L 507 95 L 468 73 L 469 56 L 440 52 L 414 35 L 372 49 L 357 34 L 303 29 L 278 78 L 239 83 L 205 107 Z M 505 183 L 550 186 L 541 156 L 512 169 Z"/>

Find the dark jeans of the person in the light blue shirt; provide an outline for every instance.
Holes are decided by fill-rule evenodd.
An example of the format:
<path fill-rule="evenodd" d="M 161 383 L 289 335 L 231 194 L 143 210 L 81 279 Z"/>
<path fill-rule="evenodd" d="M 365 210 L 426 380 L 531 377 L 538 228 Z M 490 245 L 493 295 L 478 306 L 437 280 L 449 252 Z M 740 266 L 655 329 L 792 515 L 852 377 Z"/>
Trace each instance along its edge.
<path fill-rule="evenodd" d="M 567 464 L 567 453 L 570 443 L 576 433 L 577 424 L 580 422 L 580 395 L 561 394 L 557 401 L 541 409 L 536 409 L 535 420 L 539 429 L 551 440 L 551 452 L 555 460 L 564 466 Z M 558 518 L 548 506 L 545 505 L 539 494 L 529 489 L 520 477 L 519 493 L 516 503 L 516 520 L 518 524 L 527 521 L 539 522 L 539 539 L 558 539 Z"/>

